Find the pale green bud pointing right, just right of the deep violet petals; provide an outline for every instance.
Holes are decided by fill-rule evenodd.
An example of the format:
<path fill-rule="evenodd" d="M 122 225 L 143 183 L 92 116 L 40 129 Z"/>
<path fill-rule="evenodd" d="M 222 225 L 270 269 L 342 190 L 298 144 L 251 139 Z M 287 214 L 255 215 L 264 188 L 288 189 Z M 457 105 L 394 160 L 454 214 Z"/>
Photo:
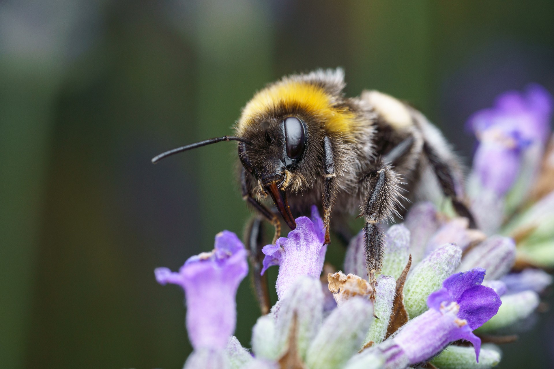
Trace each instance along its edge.
<path fill-rule="evenodd" d="M 533 291 L 524 291 L 512 295 L 501 297 L 502 305 L 493 318 L 487 321 L 478 332 L 490 332 L 504 328 L 516 321 L 527 318 L 538 306 L 540 302 L 538 294 Z"/>

